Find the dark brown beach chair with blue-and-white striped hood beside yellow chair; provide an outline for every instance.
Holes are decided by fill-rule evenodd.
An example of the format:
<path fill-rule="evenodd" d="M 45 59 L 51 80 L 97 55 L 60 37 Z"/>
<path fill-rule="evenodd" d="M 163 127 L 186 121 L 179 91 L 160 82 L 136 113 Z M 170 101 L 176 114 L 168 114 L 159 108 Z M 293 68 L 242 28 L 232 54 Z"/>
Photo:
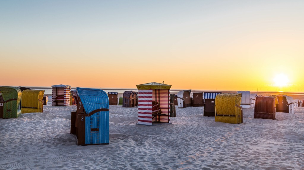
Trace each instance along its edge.
<path fill-rule="evenodd" d="M 215 115 L 215 97 L 219 94 L 222 94 L 222 92 L 204 92 L 204 116 Z"/>

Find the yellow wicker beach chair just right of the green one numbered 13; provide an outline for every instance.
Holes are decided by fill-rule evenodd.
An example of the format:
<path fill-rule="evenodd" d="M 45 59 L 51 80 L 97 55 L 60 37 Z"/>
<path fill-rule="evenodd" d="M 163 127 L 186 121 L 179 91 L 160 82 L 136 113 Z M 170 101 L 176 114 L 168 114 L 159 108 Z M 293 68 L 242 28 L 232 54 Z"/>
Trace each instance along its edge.
<path fill-rule="evenodd" d="M 23 90 L 21 112 L 36 113 L 43 112 L 43 94 L 44 90 Z"/>

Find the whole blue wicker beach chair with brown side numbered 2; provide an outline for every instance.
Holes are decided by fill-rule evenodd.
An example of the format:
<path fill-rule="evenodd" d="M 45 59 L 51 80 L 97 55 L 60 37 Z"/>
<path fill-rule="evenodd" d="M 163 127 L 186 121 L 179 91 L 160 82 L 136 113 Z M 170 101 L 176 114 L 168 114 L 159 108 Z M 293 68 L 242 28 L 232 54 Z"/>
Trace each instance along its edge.
<path fill-rule="evenodd" d="M 71 134 L 77 145 L 109 144 L 109 98 L 100 89 L 76 88 L 77 110 L 71 112 Z"/>

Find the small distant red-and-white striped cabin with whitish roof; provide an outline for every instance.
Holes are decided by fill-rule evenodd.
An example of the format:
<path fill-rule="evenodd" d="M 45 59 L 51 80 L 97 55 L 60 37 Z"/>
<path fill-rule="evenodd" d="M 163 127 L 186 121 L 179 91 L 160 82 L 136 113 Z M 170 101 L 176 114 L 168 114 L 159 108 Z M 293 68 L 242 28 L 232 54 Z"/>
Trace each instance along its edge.
<path fill-rule="evenodd" d="M 69 106 L 71 86 L 52 85 L 52 88 L 52 106 Z"/>

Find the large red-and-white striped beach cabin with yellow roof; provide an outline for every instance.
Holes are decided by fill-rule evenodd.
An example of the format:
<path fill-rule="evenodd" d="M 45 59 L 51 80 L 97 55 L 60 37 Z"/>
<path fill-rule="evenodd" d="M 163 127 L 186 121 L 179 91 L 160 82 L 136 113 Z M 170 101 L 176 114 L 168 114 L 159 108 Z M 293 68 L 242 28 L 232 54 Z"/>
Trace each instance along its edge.
<path fill-rule="evenodd" d="M 158 125 L 170 123 L 170 88 L 171 85 L 147 83 L 136 85 L 138 89 L 138 123 L 139 125 Z M 158 103 L 161 113 L 152 114 Z M 153 119 L 153 120 L 152 120 Z"/>

